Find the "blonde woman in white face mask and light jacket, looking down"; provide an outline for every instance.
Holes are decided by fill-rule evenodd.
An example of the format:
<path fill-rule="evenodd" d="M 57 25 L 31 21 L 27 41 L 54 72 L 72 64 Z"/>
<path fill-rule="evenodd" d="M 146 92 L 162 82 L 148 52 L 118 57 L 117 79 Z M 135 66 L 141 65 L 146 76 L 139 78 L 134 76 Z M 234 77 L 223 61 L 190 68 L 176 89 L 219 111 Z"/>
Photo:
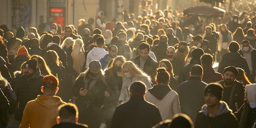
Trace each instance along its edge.
<path fill-rule="evenodd" d="M 128 88 L 134 81 L 142 81 L 147 86 L 147 89 L 151 88 L 151 79 L 144 71 L 140 70 L 133 62 L 126 61 L 122 66 L 123 73 L 123 85 L 121 94 L 119 96 L 119 104 L 121 102 L 126 102 L 130 99 L 130 94 L 128 93 Z"/>

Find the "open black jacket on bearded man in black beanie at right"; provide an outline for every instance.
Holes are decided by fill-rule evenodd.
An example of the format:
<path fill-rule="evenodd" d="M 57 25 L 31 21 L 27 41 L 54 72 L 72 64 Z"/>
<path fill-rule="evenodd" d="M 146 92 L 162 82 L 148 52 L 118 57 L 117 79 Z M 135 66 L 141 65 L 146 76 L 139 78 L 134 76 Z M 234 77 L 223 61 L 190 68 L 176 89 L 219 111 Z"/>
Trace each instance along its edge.
<path fill-rule="evenodd" d="M 219 82 L 222 86 L 224 84 L 224 81 L 221 80 Z M 227 102 L 229 108 L 233 111 L 236 112 L 239 110 L 239 108 L 244 104 L 244 85 L 242 83 L 239 83 L 237 80 L 235 80 L 235 86 L 234 87 L 234 92 L 231 91 L 230 95 L 227 95 L 229 102 Z M 224 86 L 223 86 L 224 88 Z M 224 88 L 225 90 L 225 88 Z M 231 97 L 231 99 L 230 99 Z M 225 94 L 223 93 L 223 99 L 225 98 Z"/>

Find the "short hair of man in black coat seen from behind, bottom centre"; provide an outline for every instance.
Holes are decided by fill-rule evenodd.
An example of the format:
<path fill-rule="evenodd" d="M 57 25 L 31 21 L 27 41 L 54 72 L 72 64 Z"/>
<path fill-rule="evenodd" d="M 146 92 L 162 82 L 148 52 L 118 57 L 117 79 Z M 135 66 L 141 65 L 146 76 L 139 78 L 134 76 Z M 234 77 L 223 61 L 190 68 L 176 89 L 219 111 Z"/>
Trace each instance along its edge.
<path fill-rule="evenodd" d="M 130 91 L 131 93 L 140 93 L 142 95 L 144 95 L 146 93 L 146 85 L 145 83 L 141 82 L 141 81 L 135 81 L 131 84 L 130 86 Z"/>

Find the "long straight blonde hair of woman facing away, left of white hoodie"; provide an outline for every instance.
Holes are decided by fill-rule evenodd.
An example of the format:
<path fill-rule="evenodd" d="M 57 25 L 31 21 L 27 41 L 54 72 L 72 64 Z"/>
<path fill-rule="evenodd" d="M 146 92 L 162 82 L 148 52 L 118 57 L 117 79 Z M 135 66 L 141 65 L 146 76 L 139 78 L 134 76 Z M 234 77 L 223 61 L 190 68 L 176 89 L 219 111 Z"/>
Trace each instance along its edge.
<path fill-rule="evenodd" d="M 72 49 L 73 51 L 71 52 L 71 56 L 72 56 L 73 60 L 79 59 L 78 55 L 81 52 L 84 52 L 83 46 L 84 46 L 84 44 L 83 44 L 83 40 L 82 39 L 76 39 L 75 40 L 74 47 Z"/>

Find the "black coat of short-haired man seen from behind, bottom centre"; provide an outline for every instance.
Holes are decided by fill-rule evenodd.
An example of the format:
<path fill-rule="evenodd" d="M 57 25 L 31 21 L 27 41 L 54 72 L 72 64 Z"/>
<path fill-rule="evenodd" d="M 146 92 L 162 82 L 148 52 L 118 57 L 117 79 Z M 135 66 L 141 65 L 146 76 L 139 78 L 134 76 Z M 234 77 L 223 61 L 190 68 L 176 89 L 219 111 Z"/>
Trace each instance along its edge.
<path fill-rule="evenodd" d="M 162 121 L 159 110 L 144 97 L 131 97 L 116 108 L 111 128 L 151 128 Z"/>

